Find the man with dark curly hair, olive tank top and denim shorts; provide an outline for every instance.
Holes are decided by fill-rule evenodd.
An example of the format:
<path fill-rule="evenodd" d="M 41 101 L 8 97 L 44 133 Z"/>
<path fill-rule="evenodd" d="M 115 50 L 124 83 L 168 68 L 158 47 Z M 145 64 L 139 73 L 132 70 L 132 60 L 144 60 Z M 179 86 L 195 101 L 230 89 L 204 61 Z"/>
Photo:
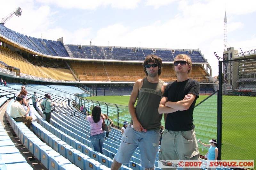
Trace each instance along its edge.
<path fill-rule="evenodd" d="M 162 115 L 158 114 L 158 106 L 166 87 L 164 81 L 158 78 L 162 72 L 162 59 L 148 55 L 143 68 L 147 77 L 137 80 L 133 85 L 128 105 L 131 124 L 124 131 L 112 170 L 119 169 L 122 164 L 129 164 L 137 147 L 140 148 L 141 166 L 145 169 L 155 167 L 162 119 Z"/>

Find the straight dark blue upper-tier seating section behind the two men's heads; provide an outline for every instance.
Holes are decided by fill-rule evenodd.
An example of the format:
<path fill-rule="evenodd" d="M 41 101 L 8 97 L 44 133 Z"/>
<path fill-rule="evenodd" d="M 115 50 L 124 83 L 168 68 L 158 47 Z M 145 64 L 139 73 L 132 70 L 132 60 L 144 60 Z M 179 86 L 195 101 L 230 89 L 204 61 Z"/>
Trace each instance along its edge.
<path fill-rule="evenodd" d="M 107 60 L 132 60 L 132 61 L 144 61 L 145 57 L 150 54 L 155 54 L 162 58 L 164 62 L 173 62 L 176 55 L 187 54 L 192 58 L 192 62 L 202 62 L 207 61 L 200 54 L 199 51 L 191 50 L 176 50 L 172 53 L 172 50 L 166 49 L 132 49 L 129 47 L 114 47 L 111 50 L 108 47 L 102 46 L 78 46 L 78 45 L 67 45 L 75 58 L 85 58 L 85 59 L 107 59 Z"/>

